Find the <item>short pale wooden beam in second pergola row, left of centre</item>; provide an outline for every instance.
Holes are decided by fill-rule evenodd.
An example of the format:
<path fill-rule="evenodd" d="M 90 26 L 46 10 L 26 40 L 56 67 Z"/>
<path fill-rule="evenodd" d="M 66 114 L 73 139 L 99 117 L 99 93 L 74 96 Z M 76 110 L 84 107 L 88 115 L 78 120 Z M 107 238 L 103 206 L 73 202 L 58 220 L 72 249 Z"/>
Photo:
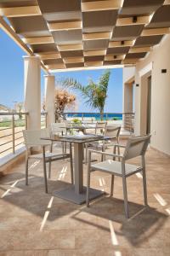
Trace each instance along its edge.
<path fill-rule="evenodd" d="M 82 20 L 48 23 L 48 28 L 50 31 L 82 29 Z"/>

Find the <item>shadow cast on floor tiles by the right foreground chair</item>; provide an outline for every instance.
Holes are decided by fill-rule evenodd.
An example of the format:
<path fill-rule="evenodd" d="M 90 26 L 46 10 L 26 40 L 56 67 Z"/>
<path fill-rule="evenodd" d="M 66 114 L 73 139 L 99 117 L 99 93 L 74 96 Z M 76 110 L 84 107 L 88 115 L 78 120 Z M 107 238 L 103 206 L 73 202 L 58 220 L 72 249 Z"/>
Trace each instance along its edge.
<path fill-rule="evenodd" d="M 108 220 L 108 225 L 105 224 L 93 224 L 86 222 L 79 217 L 81 212 L 88 212 L 99 219 Z M 116 230 L 116 235 L 126 237 L 133 246 L 141 245 L 144 241 L 147 241 L 151 236 L 155 236 L 156 232 L 160 230 L 167 220 L 167 215 L 156 211 L 152 207 L 144 207 L 142 205 L 129 202 L 130 218 L 125 218 L 123 201 L 111 197 L 102 197 L 97 201 L 94 201 L 90 207 L 83 207 L 80 212 L 72 215 L 71 218 L 75 218 L 78 221 L 85 222 L 87 224 L 96 225 L 101 230 L 110 231 L 109 221 L 114 224 L 121 224 L 121 228 Z M 81 216 L 81 214 L 80 214 Z"/>

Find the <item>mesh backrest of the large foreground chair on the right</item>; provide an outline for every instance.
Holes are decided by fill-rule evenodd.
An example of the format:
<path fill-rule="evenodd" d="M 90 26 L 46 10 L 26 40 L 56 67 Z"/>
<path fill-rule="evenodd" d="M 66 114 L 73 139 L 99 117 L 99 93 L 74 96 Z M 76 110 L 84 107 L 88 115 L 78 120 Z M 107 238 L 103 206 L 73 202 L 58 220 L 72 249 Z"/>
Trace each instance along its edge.
<path fill-rule="evenodd" d="M 130 137 L 127 141 L 127 147 L 124 152 L 125 160 L 144 155 L 148 144 L 150 143 L 150 135 Z"/>

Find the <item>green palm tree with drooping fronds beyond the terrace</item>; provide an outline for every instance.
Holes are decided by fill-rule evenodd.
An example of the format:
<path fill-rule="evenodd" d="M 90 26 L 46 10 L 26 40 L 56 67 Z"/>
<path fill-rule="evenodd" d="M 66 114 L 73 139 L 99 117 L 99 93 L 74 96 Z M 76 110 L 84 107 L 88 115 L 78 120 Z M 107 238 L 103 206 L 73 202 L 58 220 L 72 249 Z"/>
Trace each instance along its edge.
<path fill-rule="evenodd" d="M 100 118 L 103 119 L 110 75 L 111 71 L 107 70 L 101 75 L 98 83 L 94 83 L 93 79 L 89 79 L 87 86 L 83 86 L 76 79 L 71 78 L 65 79 L 62 84 L 65 87 L 80 91 L 82 97 L 86 99 L 86 103 L 91 108 L 99 109 Z"/>

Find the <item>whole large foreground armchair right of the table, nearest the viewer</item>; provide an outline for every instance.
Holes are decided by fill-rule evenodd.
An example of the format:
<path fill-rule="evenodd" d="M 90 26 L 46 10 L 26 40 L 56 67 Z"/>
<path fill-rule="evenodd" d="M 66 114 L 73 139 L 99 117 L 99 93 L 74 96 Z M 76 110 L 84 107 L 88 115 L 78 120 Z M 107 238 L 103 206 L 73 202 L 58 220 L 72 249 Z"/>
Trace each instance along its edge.
<path fill-rule="evenodd" d="M 128 202 L 127 202 L 127 177 L 137 172 L 143 173 L 143 186 L 144 186 L 144 205 L 147 205 L 147 189 L 146 189 L 146 176 L 145 176 L 145 160 L 144 155 L 150 143 L 150 135 L 144 137 L 130 137 L 127 141 L 127 146 L 119 144 L 116 147 L 125 148 L 123 154 L 111 154 L 97 150 L 88 150 L 88 180 L 87 180 L 87 207 L 89 207 L 89 185 L 90 185 L 90 172 L 100 171 L 111 173 L 111 195 L 113 195 L 114 176 L 122 177 L 122 188 L 124 195 L 124 208 L 126 217 L 129 218 Z M 91 154 L 103 154 L 115 158 L 115 160 L 105 160 L 91 165 Z M 133 159 L 134 157 L 141 156 L 141 166 L 133 166 L 126 163 L 126 160 Z M 116 157 L 121 158 L 121 161 L 116 161 Z"/>

